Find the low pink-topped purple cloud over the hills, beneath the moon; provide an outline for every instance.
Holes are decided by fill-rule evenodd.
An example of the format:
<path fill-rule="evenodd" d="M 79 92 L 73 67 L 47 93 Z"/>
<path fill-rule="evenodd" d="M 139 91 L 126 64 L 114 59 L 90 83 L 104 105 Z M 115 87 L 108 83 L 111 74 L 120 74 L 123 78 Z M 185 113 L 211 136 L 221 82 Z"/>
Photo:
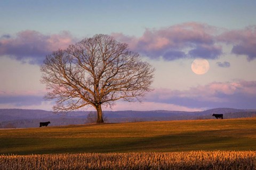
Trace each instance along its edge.
<path fill-rule="evenodd" d="M 256 81 L 212 82 L 185 91 L 155 89 L 147 100 L 190 108 L 255 108 Z"/>

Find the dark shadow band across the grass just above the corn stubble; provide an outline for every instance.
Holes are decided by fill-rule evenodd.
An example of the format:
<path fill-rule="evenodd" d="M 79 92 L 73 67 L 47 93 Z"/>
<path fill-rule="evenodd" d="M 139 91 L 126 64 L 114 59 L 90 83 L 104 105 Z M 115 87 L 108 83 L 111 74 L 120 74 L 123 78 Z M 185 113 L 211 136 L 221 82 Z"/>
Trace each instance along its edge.
<path fill-rule="evenodd" d="M 230 132 L 231 133 L 231 132 Z M 0 154 L 256 150 L 256 139 L 221 130 L 144 138 L 0 138 Z"/>

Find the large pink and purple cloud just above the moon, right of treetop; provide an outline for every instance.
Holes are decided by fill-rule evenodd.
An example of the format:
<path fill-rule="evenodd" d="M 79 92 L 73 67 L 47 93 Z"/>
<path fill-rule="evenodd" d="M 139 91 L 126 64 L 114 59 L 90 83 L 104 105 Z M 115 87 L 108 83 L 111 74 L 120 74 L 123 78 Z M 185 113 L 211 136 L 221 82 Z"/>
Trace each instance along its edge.
<path fill-rule="evenodd" d="M 139 38 L 113 33 L 117 40 L 129 44 L 132 50 L 153 59 L 161 56 L 164 60 L 179 58 L 216 59 L 222 54 L 222 48 L 215 45 L 217 28 L 197 22 L 173 25 L 162 29 L 146 29 Z M 189 53 L 185 51 L 189 49 Z"/>

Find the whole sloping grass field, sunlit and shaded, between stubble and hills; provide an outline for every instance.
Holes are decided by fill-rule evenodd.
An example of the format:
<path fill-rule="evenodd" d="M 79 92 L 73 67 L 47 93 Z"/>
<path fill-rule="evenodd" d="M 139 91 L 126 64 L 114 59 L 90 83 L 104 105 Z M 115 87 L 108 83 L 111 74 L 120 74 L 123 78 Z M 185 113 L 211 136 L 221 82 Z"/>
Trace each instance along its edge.
<path fill-rule="evenodd" d="M 0 154 L 256 150 L 256 118 L 0 130 Z"/>

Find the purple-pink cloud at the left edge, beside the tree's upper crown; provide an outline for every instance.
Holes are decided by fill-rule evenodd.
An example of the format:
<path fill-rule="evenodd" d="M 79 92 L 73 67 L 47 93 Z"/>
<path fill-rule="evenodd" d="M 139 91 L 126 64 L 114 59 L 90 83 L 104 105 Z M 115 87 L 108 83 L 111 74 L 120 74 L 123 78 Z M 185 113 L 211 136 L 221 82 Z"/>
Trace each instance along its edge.
<path fill-rule="evenodd" d="M 7 55 L 18 61 L 41 64 L 47 54 L 59 48 L 67 48 L 75 39 L 68 33 L 43 35 L 37 31 L 21 31 L 17 36 L 0 38 L 0 56 Z"/>

